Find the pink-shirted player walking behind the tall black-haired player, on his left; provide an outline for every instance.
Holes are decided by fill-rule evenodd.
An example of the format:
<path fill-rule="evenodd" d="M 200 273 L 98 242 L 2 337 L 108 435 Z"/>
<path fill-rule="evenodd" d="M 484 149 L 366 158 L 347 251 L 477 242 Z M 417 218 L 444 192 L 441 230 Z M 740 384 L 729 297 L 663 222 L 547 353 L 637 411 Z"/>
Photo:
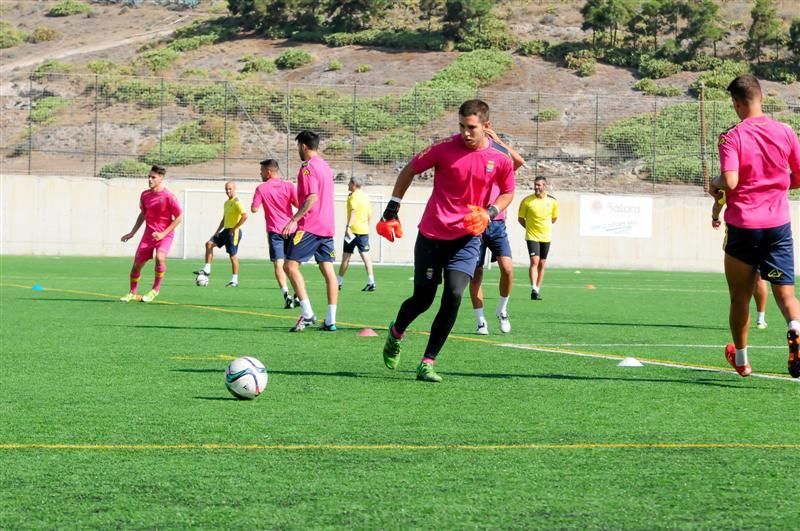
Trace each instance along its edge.
<path fill-rule="evenodd" d="M 283 228 L 292 219 L 294 214 L 292 207 L 297 208 L 297 189 L 291 182 L 281 179 L 280 166 L 275 159 L 261 161 L 261 181 L 253 194 L 250 212 L 255 214 L 262 206 L 264 207 L 269 259 L 275 271 L 275 280 L 278 281 L 278 287 L 283 295 L 284 308 L 291 309 L 294 308 L 294 299 L 289 295 L 283 264 L 294 234 L 284 237 Z"/>

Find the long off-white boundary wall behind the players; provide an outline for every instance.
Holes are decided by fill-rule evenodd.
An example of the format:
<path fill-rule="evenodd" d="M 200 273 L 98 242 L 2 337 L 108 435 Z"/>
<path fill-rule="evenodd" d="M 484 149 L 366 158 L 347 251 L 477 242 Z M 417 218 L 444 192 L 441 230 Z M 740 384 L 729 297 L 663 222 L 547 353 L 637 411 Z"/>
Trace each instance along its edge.
<path fill-rule="evenodd" d="M 0 176 L 1 254 L 133 256 L 141 234 L 126 244 L 120 237 L 138 215 L 139 194 L 146 180 L 59 176 Z M 222 181 L 166 180 L 185 208 L 170 256 L 198 259 L 203 244 L 222 217 Z M 259 182 L 238 181 L 248 207 Z M 414 184 L 400 210 L 406 235 L 396 243 L 381 241 L 374 224 L 382 212 L 389 186 L 367 186 L 372 200 L 372 256 L 382 263 L 413 261 L 416 224 L 430 187 Z M 517 264 L 526 264 L 524 231 L 516 221 L 519 201 L 532 190 L 518 192 L 509 212 L 508 230 Z M 336 185 L 336 250 L 341 253 L 347 188 Z M 553 229 L 551 267 L 721 271 L 723 230 L 711 228 L 711 198 L 681 196 L 605 196 L 553 192 L 560 207 Z M 187 208 L 188 207 L 188 208 Z M 605 209 L 605 210 L 604 210 Z M 798 205 L 792 203 L 797 227 Z M 619 217 L 618 216 L 621 216 Z M 607 223 L 603 223 L 607 220 Z M 593 223 L 592 223 L 593 221 Z M 264 218 L 251 214 L 243 227 L 241 258 L 267 256 Z M 625 236 L 630 234 L 630 236 Z M 608 235 L 588 235 L 608 234 Z M 218 251 L 223 253 L 224 250 Z"/>

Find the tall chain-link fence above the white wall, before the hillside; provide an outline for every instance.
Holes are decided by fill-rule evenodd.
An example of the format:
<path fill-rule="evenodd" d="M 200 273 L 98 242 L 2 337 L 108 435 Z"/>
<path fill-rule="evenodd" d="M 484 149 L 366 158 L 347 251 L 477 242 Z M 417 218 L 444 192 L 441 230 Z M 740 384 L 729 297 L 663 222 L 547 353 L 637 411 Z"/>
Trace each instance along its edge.
<path fill-rule="evenodd" d="M 640 93 L 545 94 L 454 88 L 263 84 L 48 74 L 6 97 L 0 167 L 7 173 L 242 178 L 275 158 L 293 177 L 294 136 L 311 129 L 341 180 L 391 183 L 416 151 L 457 131 L 458 105 L 480 97 L 526 159 L 519 185 L 698 193 L 718 172 L 716 137 L 736 123 L 729 102 Z M 765 110 L 800 130 L 800 107 Z M 430 176 L 422 176 L 425 180 Z"/>

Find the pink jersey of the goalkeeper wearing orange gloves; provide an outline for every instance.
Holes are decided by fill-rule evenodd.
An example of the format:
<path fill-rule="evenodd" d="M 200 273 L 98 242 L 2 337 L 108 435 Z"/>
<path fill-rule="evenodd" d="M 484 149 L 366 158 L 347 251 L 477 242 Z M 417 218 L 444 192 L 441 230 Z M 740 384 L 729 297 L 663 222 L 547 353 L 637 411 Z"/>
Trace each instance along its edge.
<path fill-rule="evenodd" d="M 497 185 L 497 195 L 514 192 L 514 163 L 493 142 L 473 150 L 456 134 L 418 153 L 411 166 L 415 173 L 434 168 L 433 191 L 419 223 L 419 231 L 434 240 L 467 235 L 464 217 L 469 205 L 487 206 L 492 184 Z"/>

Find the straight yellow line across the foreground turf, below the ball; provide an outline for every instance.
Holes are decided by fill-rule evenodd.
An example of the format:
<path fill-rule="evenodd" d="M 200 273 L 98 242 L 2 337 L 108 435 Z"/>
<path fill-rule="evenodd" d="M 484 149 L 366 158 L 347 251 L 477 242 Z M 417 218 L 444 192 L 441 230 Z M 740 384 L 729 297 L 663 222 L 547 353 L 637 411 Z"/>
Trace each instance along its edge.
<path fill-rule="evenodd" d="M 576 444 L 47 444 L 6 443 L 2 450 L 278 450 L 278 451 L 498 451 L 498 450 L 693 450 L 693 449 L 751 449 L 800 450 L 800 444 L 761 443 L 576 443 Z"/>

